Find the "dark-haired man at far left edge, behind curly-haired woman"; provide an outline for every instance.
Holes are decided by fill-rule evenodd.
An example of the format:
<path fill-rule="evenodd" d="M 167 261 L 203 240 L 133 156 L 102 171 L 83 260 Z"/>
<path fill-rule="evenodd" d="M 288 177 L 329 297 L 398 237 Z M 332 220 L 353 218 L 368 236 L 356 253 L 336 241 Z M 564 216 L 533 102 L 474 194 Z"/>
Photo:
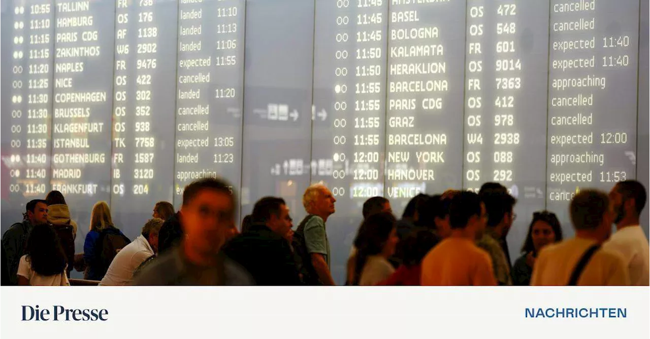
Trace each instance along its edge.
<path fill-rule="evenodd" d="M 20 258 L 25 254 L 27 237 L 32 227 L 38 224 L 47 224 L 47 202 L 45 200 L 31 200 L 25 206 L 23 222 L 16 222 L 6 230 L 2 237 L 6 253 L 6 266 L 9 273 L 9 281 L 12 285 L 18 285 L 18 264 Z"/>

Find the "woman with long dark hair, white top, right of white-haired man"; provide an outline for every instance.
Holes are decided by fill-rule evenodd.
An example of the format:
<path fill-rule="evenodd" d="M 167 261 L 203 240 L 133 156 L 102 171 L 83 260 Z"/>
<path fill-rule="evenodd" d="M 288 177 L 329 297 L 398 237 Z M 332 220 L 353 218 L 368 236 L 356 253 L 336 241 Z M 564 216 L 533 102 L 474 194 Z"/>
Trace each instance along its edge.
<path fill-rule="evenodd" d="M 354 239 L 357 253 L 352 285 L 376 285 L 395 272 L 388 261 L 399 241 L 395 222 L 395 216 L 387 212 L 363 220 Z"/>

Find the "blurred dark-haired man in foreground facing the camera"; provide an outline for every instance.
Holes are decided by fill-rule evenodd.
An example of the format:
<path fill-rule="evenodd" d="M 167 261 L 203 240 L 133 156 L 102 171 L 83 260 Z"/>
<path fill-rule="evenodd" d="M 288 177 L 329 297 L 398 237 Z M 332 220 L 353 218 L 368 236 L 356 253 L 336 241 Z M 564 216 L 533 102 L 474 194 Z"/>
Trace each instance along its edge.
<path fill-rule="evenodd" d="M 204 178 L 185 187 L 179 213 L 185 237 L 147 266 L 136 285 L 254 285 L 250 274 L 221 253 L 235 227 L 235 197 L 226 181 Z"/>

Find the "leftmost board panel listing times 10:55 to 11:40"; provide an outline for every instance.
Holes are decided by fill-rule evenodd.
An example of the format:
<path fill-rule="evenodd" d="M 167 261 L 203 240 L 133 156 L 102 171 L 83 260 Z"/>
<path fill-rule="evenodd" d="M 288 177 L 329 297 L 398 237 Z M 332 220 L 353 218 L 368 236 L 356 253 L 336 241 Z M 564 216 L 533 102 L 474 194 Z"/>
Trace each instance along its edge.
<path fill-rule="evenodd" d="M 2 154 L 8 204 L 2 210 L 20 210 L 25 200 L 47 193 L 50 178 L 51 107 L 53 89 L 53 1 L 25 4 L 8 1 L 3 14 Z M 24 211 L 24 210 L 22 210 Z M 20 212 L 22 212 L 20 211 Z"/>

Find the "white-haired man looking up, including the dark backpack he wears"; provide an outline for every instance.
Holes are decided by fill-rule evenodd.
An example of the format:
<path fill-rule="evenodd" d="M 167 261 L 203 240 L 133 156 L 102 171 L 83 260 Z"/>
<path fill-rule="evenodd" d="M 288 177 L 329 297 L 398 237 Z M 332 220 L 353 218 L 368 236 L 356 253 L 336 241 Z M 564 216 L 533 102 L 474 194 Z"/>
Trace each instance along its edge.
<path fill-rule="evenodd" d="M 324 185 L 311 185 L 302 196 L 308 215 L 294 234 L 300 273 L 306 285 L 334 285 L 330 273 L 330 242 L 325 223 L 335 212 L 336 199 Z"/>

